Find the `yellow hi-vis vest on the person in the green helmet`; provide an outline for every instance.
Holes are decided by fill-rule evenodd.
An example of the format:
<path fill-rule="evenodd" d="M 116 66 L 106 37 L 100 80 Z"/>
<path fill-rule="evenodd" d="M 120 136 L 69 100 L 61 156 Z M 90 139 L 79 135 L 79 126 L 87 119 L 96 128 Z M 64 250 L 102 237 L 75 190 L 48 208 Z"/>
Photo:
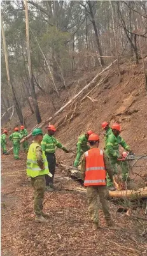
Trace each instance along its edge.
<path fill-rule="evenodd" d="M 29 147 L 29 152 L 27 154 L 27 176 L 37 177 L 39 175 L 50 174 L 48 169 L 48 162 L 46 160 L 45 152 L 43 152 L 43 162 L 45 165 L 45 169 L 41 170 L 37 160 L 36 160 L 36 147 L 41 147 L 38 143 L 32 142 Z"/>

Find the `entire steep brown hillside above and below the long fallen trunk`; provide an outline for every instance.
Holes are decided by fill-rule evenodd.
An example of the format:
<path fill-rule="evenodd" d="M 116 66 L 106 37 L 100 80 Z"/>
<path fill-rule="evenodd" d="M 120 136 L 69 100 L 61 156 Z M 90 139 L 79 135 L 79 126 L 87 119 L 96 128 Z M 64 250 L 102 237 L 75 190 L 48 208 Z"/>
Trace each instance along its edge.
<path fill-rule="evenodd" d="M 38 102 L 42 120 L 52 116 L 85 84 L 90 82 L 98 72 L 99 70 L 94 70 L 91 73 L 84 73 L 83 77 L 76 77 L 67 81 L 68 90 L 60 89 L 60 99 L 55 94 L 51 96 L 40 95 Z M 121 123 L 121 135 L 135 153 L 146 153 L 147 96 L 142 64 L 139 66 L 132 63 L 122 64 L 120 73 L 121 79 L 117 66 L 113 65 L 78 100 L 53 119 L 52 123 L 58 128 L 57 138 L 71 149 L 69 157 L 66 156 L 66 162 L 73 163 L 78 135 L 86 132 L 87 129 L 99 133 L 101 147 L 103 146 L 102 121 Z M 106 77 L 104 82 L 95 87 L 103 77 Z M 87 94 L 88 96 L 86 96 Z M 28 107 L 25 107 L 24 114 L 28 130 L 31 131 L 36 126 L 36 119 Z M 17 122 L 16 120 L 12 121 L 11 129 L 18 124 Z M 46 132 L 45 127 L 43 130 Z M 62 160 L 64 160 L 64 155 Z"/>

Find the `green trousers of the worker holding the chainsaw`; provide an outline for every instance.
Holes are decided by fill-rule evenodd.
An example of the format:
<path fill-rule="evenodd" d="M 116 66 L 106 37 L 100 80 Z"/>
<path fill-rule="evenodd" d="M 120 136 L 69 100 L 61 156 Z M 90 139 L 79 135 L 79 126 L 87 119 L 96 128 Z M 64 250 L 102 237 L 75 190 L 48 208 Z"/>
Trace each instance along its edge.
<path fill-rule="evenodd" d="M 109 158 L 109 163 L 113 170 L 113 174 L 118 174 L 118 166 L 122 169 L 122 180 L 125 181 L 129 172 L 129 165 L 127 161 L 118 161 L 116 158 Z M 113 186 L 113 182 L 109 179 L 107 174 L 107 186 Z"/>

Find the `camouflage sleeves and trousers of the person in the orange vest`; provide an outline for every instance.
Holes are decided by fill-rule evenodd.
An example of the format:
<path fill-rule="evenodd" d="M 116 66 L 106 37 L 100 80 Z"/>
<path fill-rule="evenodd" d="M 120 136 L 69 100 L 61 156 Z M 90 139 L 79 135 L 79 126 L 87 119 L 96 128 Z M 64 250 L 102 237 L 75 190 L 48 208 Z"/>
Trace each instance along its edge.
<path fill-rule="evenodd" d="M 109 174 L 111 180 L 113 180 L 113 174 L 111 166 L 109 165 L 109 160 L 106 154 L 104 153 L 104 165 L 106 171 Z M 81 160 L 81 178 L 85 180 L 85 170 L 86 170 L 86 160 L 85 154 Z M 87 186 L 87 199 L 88 199 L 88 211 L 90 213 L 90 218 L 92 222 L 99 223 L 99 205 L 97 202 L 97 195 L 99 195 L 99 200 L 102 204 L 102 211 L 104 213 L 106 220 L 111 220 L 111 215 L 109 213 L 109 204 L 108 204 L 108 190 L 107 186 Z"/>

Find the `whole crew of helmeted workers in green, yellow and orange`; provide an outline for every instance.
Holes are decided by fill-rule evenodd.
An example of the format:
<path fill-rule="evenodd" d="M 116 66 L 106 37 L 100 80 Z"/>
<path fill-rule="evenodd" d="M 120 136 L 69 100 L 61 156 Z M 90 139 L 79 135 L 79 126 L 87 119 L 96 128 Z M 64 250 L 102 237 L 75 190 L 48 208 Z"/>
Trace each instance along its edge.
<path fill-rule="evenodd" d="M 53 136 L 56 132 L 55 126 L 50 124 L 46 129 L 47 133 L 44 136 L 40 128 L 32 130 L 34 140 L 29 146 L 27 154 L 27 176 L 31 178 L 31 184 L 34 188 L 35 220 L 41 223 L 47 223 L 47 218 L 50 216 L 43 212 L 45 190 L 50 192 L 57 189 L 53 184 L 56 166 L 55 149 L 59 147 L 66 153 L 69 153 L 69 150 Z M 125 158 L 119 153 L 119 145 L 126 151 L 131 152 L 130 147 L 120 137 L 120 124 L 114 123 L 110 128 L 107 122 L 103 122 L 102 129 L 106 131 L 104 135 L 104 149 L 99 149 L 99 135 L 92 130 L 88 130 L 87 133 L 78 138 L 78 143 L 76 144 L 77 154 L 73 165 L 73 168 L 77 169 L 81 161 L 81 177 L 87 188 L 88 210 L 94 230 L 99 227 L 98 195 L 106 223 L 108 226 L 112 225 L 107 201 L 107 188 L 109 190 L 116 189 L 113 186 L 113 176 L 118 172 L 118 165 L 122 167 L 123 180 L 126 179 L 129 172 Z M 6 132 L 3 134 L 6 134 Z M 13 147 L 15 146 L 15 159 L 18 159 L 20 140 L 25 138 L 25 136 L 27 136 L 27 131 L 24 129 L 24 126 L 20 127 L 20 133 L 18 128 L 15 128 L 15 132 L 10 135 Z M 6 140 L 5 137 L 4 139 Z M 24 140 L 24 142 L 27 142 L 27 140 Z M 2 147 L 3 143 L 1 143 Z M 27 150 L 28 142 L 24 145 L 24 149 Z M 3 153 L 6 154 L 6 148 L 4 147 Z"/>

